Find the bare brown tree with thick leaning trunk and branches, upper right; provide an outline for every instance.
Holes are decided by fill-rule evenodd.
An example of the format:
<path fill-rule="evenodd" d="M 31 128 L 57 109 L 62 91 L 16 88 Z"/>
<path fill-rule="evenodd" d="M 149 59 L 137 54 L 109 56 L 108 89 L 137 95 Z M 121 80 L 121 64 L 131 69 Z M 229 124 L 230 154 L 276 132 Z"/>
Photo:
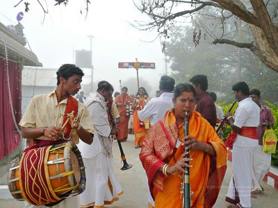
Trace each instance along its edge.
<path fill-rule="evenodd" d="M 134 0 L 141 12 L 149 17 L 149 21 L 137 22 L 136 26 L 142 30 L 157 28 L 158 35 L 169 38 L 169 28 L 173 24 L 182 24 L 192 20 L 197 22 L 206 35 L 213 37 L 214 44 L 230 44 L 239 48 L 249 49 L 263 64 L 278 72 L 278 26 L 277 0 Z M 211 9 L 209 9 L 211 8 Z M 211 12 L 213 11 L 213 12 Z M 217 21 L 216 24 L 206 24 L 199 21 L 200 17 L 207 17 Z M 232 19 L 234 25 L 227 26 Z M 247 27 L 241 27 L 244 21 Z M 250 29 L 252 38 L 240 42 L 237 38 L 229 38 L 231 31 L 245 31 Z M 222 33 L 215 33 L 221 29 Z M 248 31 L 245 31 L 247 34 Z M 247 35 L 249 36 L 249 35 Z M 193 38 L 199 44 L 201 31 L 195 31 Z"/>

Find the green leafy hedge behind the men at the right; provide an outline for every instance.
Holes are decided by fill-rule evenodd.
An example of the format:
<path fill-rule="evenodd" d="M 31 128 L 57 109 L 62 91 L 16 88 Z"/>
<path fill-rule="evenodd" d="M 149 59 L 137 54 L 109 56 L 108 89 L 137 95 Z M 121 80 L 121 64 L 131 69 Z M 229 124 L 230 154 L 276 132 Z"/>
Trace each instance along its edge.
<path fill-rule="evenodd" d="M 273 130 L 275 130 L 275 133 L 278 137 L 278 107 L 273 104 L 270 103 L 269 101 L 263 101 L 263 104 L 268 105 L 268 107 L 270 107 L 272 114 L 275 118 L 275 123 L 273 125 Z M 231 107 L 231 104 L 229 105 L 225 105 L 224 103 L 219 103 L 218 105 L 220 105 L 223 109 L 224 114 L 229 110 L 229 108 Z M 231 110 L 232 114 L 234 114 L 234 111 L 236 110 L 236 107 L 238 107 L 238 103 L 236 103 L 236 105 L 234 106 L 234 109 Z M 229 135 L 229 133 L 231 132 L 231 126 L 227 126 L 226 130 L 224 131 L 223 134 L 223 141 L 225 141 Z M 272 165 L 278 166 L 278 145 L 276 146 L 276 153 L 272 154 L 272 160 L 271 160 Z"/>

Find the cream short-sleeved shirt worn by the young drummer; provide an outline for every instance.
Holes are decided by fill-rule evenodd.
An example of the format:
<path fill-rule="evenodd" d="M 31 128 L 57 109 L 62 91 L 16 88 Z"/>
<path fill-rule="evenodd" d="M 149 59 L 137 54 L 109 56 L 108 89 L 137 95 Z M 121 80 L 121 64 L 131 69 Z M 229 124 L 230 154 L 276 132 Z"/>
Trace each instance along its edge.
<path fill-rule="evenodd" d="M 40 94 L 34 96 L 29 103 L 22 120 L 19 125 L 27 128 L 42 128 L 48 126 L 62 127 L 63 116 L 60 113 L 65 112 L 67 106 L 67 99 L 57 102 L 55 91 L 49 94 Z M 88 130 L 88 132 L 94 133 L 94 127 L 88 110 L 85 108 L 83 103 L 79 102 L 77 119 L 80 121 L 81 126 Z M 37 139 L 43 139 L 44 136 L 38 137 Z M 72 141 L 75 144 L 79 143 L 79 136 L 75 130 L 72 130 Z"/>

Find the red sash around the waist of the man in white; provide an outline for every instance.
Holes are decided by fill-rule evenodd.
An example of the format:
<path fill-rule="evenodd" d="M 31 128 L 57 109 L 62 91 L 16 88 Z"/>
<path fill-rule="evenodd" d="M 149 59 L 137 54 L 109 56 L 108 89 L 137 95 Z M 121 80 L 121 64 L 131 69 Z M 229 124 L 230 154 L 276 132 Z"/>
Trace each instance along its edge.
<path fill-rule="evenodd" d="M 227 140 L 225 141 L 225 146 L 233 148 L 237 135 L 248 137 L 250 139 L 257 139 L 256 127 L 243 126 L 243 128 L 240 129 L 240 132 L 238 134 L 232 131 Z"/>

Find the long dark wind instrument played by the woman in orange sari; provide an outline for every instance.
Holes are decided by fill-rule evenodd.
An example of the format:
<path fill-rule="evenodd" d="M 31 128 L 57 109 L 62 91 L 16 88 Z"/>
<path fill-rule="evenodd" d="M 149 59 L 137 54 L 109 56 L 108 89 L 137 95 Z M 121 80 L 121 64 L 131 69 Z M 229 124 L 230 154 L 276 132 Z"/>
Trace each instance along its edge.
<path fill-rule="evenodd" d="M 189 121 L 189 116 L 186 112 L 184 115 L 184 135 L 185 137 L 188 136 L 188 121 Z M 187 145 L 184 146 L 184 153 L 186 153 L 186 148 Z M 186 158 L 189 158 L 189 154 L 184 156 Z M 189 161 L 186 162 L 189 164 Z M 187 173 L 183 174 L 183 207 L 184 208 L 190 208 L 190 182 L 189 182 L 189 168 L 184 167 L 184 170 L 187 171 Z"/>

